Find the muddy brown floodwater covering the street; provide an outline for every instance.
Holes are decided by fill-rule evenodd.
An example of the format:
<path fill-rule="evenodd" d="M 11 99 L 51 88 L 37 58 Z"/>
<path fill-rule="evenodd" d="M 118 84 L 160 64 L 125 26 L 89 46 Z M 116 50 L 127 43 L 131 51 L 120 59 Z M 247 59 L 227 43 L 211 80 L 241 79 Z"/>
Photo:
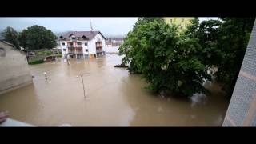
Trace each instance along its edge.
<path fill-rule="evenodd" d="M 0 110 L 36 126 L 221 126 L 229 101 L 215 84 L 212 95 L 164 98 L 144 89 L 138 74 L 114 68 L 118 55 L 63 59 L 30 66 L 33 84 L 0 95 Z M 48 80 L 45 79 L 44 72 Z M 86 98 L 83 96 L 84 75 Z"/>

